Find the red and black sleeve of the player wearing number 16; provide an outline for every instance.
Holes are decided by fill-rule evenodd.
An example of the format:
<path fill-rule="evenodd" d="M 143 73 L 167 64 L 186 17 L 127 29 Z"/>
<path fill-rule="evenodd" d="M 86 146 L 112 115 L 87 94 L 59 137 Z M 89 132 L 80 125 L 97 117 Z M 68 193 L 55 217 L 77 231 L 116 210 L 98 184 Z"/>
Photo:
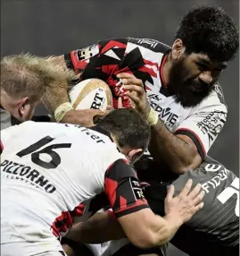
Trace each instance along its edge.
<path fill-rule="evenodd" d="M 136 171 L 126 159 L 116 160 L 107 169 L 104 189 L 116 218 L 148 208 Z"/>

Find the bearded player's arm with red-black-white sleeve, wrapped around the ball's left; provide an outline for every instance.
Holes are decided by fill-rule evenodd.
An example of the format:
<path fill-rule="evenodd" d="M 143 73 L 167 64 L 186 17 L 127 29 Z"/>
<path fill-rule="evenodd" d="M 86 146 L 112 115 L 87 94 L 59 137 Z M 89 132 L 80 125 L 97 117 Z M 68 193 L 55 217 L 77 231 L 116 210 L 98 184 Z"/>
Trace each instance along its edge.
<path fill-rule="evenodd" d="M 93 46 L 74 50 L 69 54 L 51 57 L 50 61 L 56 64 L 62 64 L 63 69 L 68 68 L 80 74 L 79 81 L 98 78 L 106 81 L 109 86 L 112 86 L 118 82 L 118 80 L 114 79 L 115 76 L 112 77 L 112 75 L 118 71 L 119 64 L 122 58 L 124 58 L 127 41 L 128 38 L 101 40 Z M 116 55 L 116 57 L 112 58 L 106 54 L 106 52 L 115 48 L 118 48 L 118 56 Z M 63 123 L 92 126 L 94 125 L 93 117 L 95 115 L 103 115 L 100 110 L 96 109 L 70 109 L 67 83 L 63 86 L 53 84 L 52 88 L 46 88 L 43 103 L 52 115 L 55 110 L 57 110 L 56 112 L 61 112 L 59 110 L 62 110 L 61 107 L 64 107 L 64 114 L 61 115 L 64 116 L 61 120 Z M 63 103 L 65 104 L 62 105 Z"/>

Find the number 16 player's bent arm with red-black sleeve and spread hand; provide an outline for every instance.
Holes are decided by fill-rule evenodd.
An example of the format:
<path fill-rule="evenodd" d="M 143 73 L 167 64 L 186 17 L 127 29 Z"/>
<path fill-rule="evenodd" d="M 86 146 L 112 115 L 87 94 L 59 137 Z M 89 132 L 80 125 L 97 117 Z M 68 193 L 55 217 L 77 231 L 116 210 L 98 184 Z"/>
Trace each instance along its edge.
<path fill-rule="evenodd" d="M 126 160 L 114 162 L 105 175 L 105 192 L 110 201 L 114 216 L 131 243 L 140 248 L 151 248 L 170 241 L 179 226 L 192 218 L 203 206 L 200 203 L 203 193 L 201 186 L 190 192 L 192 183 L 186 183 L 179 194 L 179 201 L 172 198 L 174 189 L 170 187 L 167 202 L 178 201 L 176 208 L 166 206 L 166 216 L 161 218 L 153 214 L 137 179 L 136 171 Z M 190 193 L 189 193 L 190 192 Z M 192 205 L 191 205 L 192 204 Z"/>

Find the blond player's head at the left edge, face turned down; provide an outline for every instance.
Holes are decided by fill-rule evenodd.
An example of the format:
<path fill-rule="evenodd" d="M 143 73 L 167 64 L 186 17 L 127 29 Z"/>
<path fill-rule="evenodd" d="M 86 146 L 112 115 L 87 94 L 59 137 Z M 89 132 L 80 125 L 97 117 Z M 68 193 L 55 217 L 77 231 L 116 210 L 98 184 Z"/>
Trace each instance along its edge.
<path fill-rule="evenodd" d="M 78 75 L 54 64 L 51 57 L 36 55 L 8 55 L 1 59 L 1 130 L 33 118 L 50 121 L 46 115 L 34 116 L 46 88 L 54 91 L 54 84 L 65 86 Z"/>

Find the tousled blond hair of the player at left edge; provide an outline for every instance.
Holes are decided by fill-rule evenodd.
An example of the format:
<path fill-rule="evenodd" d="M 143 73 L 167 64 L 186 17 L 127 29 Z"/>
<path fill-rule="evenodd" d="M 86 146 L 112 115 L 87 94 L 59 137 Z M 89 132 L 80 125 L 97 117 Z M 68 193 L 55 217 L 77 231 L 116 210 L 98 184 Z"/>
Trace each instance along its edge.
<path fill-rule="evenodd" d="M 54 56 L 7 55 L 1 60 L 1 90 L 11 97 L 43 97 L 46 88 L 66 87 L 79 76 L 52 60 Z"/>

